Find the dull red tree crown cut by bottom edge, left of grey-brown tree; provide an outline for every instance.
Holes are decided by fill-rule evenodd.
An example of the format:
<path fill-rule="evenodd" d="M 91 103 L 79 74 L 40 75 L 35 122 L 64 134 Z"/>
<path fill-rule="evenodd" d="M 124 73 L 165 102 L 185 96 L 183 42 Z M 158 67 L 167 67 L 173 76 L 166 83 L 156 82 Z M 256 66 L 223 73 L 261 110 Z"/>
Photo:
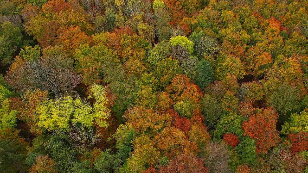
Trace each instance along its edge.
<path fill-rule="evenodd" d="M 208 173 L 209 168 L 204 166 L 203 161 L 192 155 L 191 153 L 185 153 L 183 151 L 179 155 L 176 155 L 175 159 L 172 159 L 167 166 L 160 167 L 159 173 Z"/>

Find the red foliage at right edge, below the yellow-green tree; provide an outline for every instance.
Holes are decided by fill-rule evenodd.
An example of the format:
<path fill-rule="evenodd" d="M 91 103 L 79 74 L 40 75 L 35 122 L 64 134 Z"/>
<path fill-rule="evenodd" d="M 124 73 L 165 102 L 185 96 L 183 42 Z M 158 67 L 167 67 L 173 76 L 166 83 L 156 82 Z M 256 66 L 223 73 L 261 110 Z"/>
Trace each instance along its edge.
<path fill-rule="evenodd" d="M 292 143 L 292 147 L 290 148 L 292 154 L 308 150 L 308 132 L 300 131 L 298 134 L 290 133 L 288 136 Z"/>

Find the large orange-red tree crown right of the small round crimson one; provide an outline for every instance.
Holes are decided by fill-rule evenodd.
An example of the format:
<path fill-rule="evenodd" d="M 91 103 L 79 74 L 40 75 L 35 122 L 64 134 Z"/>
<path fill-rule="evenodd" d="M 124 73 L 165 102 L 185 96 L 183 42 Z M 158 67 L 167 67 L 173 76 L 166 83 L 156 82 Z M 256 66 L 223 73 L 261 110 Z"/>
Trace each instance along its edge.
<path fill-rule="evenodd" d="M 265 154 L 271 147 L 280 141 L 279 132 L 276 129 L 278 114 L 270 107 L 261 113 L 250 116 L 248 122 L 243 121 L 244 135 L 256 141 L 256 151 Z"/>

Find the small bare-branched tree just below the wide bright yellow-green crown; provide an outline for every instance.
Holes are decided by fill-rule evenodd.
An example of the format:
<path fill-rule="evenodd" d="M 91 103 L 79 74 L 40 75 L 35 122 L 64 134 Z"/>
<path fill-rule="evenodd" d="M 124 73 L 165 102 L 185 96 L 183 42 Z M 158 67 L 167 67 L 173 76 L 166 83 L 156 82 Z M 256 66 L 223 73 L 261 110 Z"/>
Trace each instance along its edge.
<path fill-rule="evenodd" d="M 94 133 L 92 128 L 78 127 L 75 124 L 71 126 L 71 130 L 67 134 L 72 145 L 80 151 L 86 151 L 89 147 L 94 146 L 101 140 L 100 136 L 100 134 Z"/>

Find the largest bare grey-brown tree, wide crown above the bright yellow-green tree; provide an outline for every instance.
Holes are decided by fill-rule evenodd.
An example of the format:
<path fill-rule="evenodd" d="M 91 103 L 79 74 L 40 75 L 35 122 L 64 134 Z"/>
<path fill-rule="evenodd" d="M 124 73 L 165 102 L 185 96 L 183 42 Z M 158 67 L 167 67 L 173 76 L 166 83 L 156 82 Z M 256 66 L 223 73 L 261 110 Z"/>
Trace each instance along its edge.
<path fill-rule="evenodd" d="M 44 56 L 25 62 L 18 70 L 10 71 L 6 81 L 22 92 L 38 88 L 56 96 L 71 94 L 82 80 L 73 71 L 72 64 L 69 58 Z"/>

